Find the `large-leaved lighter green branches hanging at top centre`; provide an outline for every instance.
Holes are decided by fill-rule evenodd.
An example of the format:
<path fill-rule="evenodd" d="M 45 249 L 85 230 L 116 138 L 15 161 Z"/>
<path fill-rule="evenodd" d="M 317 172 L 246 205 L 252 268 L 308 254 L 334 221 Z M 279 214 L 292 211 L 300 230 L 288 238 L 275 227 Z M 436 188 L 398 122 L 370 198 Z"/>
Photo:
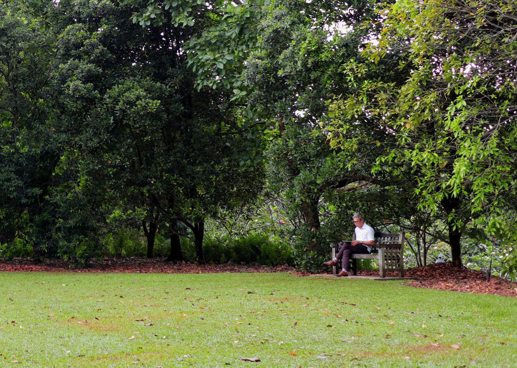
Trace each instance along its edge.
<path fill-rule="evenodd" d="M 188 64 L 196 73 L 195 85 L 232 92 L 232 101 L 242 101 L 247 86 L 242 83 L 244 61 L 257 43 L 256 24 L 267 1 L 229 3 L 221 0 L 124 0 L 134 10 L 133 23 L 142 27 L 181 29 L 189 36 L 184 43 Z"/>

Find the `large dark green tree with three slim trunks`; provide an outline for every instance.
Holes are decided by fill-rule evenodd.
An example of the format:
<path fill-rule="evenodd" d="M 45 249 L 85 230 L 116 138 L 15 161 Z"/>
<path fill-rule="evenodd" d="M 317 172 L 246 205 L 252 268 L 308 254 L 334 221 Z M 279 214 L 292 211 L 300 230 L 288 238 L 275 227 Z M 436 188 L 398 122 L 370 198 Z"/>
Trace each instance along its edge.
<path fill-rule="evenodd" d="M 88 178 L 115 203 L 131 200 L 125 207 L 149 223 L 142 223 L 149 255 L 162 218 L 170 225 L 169 259 L 182 259 L 180 220 L 204 262 L 204 218 L 221 201 L 248 198 L 259 187 L 260 166 L 239 164 L 250 152 L 257 156 L 257 147 L 227 103 L 229 92 L 195 89 L 184 45 L 198 26 L 174 26 L 169 12 L 159 25 L 133 24 L 127 19 L 137 3 L 55 7 L 53 23 L 66 45 L 56 79 L 63 134 L 84 155 Z"/>

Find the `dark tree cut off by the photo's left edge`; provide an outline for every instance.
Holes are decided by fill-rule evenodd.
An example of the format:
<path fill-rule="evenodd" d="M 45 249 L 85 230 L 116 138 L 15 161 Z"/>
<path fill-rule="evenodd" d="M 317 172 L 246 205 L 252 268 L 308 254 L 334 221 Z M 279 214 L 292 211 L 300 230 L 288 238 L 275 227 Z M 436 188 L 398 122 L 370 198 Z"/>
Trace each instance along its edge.
<path fill-rule="evenodd" d="M 45 95 L 53 62 L 52 34 L 23 2 L 0 5 L 0 211 L 2 242 L 26 239 L 37 259 L 51 237 L 45 215 L 56 185 L 56 144 Z"/>

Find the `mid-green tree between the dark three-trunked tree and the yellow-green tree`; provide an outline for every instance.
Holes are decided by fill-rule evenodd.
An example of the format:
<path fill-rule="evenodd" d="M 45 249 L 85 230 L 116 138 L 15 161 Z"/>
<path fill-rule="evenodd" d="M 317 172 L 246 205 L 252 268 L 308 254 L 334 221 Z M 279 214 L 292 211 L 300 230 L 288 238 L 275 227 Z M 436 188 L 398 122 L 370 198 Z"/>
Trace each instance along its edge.
<path fill-rule="evenodd" d="M 363 115 L 360 122 L 347 119 L 347 130 L 338 134 L 328 124 L 342 121 L 339 108 L 330 106 L 329 100 L 355 93 L 361 78 L 379 73 L 391 79 L 400 76 L 389 72 L 398 65 L 398 56 L 376 70 L 365 69 L 368 75 L 355 73 L 358 78 L 353 78 L 346 73 L 349 64 L 358 63 L 377 27 L 374 8 L 372 2 L 355 2 L 352 7 L 336 1 L 271 3 L 258 25 L 256 50 L 247 61 L 248 103 L 270 127 L 271 184 L 286 190 L 293 210 L 305 220 L 307 232 L 298 235 L 303 233 L 307 246 L 301 248 L 309 251 L 330 237 L 320 232 L 324 203 L 346 201 L 349 217 L 359 208 L 353 190 L 370 185 L 375 192 L 372 184 L 387 185 L 383 172 L 371 173 L 377 156 L 394 142 L 383 125 Z M 362 21 L 369 21 L 370 27 L 362 28 Z M 328 139 L 330 133 L 335 138 Z M 356 202 L 346 200 L 346 193 Z"/>

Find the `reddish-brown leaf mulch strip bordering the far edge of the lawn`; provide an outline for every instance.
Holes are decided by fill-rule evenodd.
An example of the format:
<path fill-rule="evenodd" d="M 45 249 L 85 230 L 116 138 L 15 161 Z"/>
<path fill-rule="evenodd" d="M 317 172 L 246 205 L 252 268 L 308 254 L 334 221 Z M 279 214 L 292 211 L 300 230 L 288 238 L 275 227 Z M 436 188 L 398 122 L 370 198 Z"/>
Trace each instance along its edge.
<path fill-rule="evenodd" d="M 123 272 L 123 273 L 236 273 L 236 272 L 289 272 L 298 276 L 309 273 L 297 272 L 289 266 L 246 266 L 241 264 L 197 264 L 189 262 L 165 262 L 164 258 L 104 258 L 91 261 L 86 268 L 73 268 L 72 263 L 61 260 L 44 260 L 34 263 L 32 259 L 0 261 L 0 271 L 12 272 Z M 359 275 L 378 275 L 378 271 L 358 271 Z M 397 275 L 388 272 L 388 275 Z M 456 269 L 451 263 L 405 270 L 405 276 L 417 277 L 406 285 L 440 290 L 454 290 L 480 294 L 495 294 L 517 297 L 517 283 L 470 269 Z"/>

